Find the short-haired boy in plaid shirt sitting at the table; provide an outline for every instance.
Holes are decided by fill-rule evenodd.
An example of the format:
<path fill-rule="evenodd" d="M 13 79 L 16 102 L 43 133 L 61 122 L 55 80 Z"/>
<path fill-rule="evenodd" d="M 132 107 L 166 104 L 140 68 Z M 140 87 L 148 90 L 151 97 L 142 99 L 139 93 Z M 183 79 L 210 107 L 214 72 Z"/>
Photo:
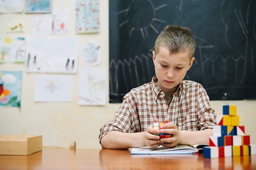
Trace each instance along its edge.
<path fill-rule="evenodd" d="M 155 76 L 128 92 L 113 120 L 100 129 L 102 148 L 209 144 L 216 113 L 199 83 L 183 81 L 195 60 L 189 28 L 168 25 L 155 41 Z M 161 131 L 153 122 L 165 122 Z M 171 134 L 161 138 L 155 133 Z"/>

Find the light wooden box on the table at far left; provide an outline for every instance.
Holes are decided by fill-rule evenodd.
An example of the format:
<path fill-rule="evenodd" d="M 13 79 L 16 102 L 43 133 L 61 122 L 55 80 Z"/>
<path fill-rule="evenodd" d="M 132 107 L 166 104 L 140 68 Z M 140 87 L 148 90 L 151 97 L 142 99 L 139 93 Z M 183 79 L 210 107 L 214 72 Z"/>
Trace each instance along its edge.
<path fill-rule="evenodd" d="M 0 135 L 0 155 L 30 155 L 42 150 L 42 135 Z"/>

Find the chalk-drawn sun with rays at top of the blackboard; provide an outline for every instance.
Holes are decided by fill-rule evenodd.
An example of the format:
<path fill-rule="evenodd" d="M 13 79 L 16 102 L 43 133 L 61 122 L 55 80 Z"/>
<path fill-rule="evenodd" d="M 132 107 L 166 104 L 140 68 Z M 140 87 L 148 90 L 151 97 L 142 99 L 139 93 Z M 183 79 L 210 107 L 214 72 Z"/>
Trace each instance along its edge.
<path fill-rule="evenodd" d="M 153 29 L 158 34 L 159 31 L 155 28 L 154 24 L 157 24 L 157 22 L 167 22 L 156 18 L 156 12 L 166 6 L 166 4 L 162 4 L 159 7 L 155 7 L 152 0 L 131 0 L 126 9 L 117 12 L 117 15 L 125 13 L 127 18 L 119 24 L 119 27 L 128 25 L 130 28 L 129 37 L 131 37 L 134 31 L 140 31 L 145 39 L 149 37 L 148 29 Z"/>

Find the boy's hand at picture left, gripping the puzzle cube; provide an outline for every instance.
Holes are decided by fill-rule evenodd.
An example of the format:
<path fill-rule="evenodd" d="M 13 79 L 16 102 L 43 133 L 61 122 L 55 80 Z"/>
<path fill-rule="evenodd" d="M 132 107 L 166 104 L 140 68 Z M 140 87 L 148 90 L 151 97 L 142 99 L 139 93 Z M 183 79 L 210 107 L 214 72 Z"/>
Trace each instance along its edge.
<path fill-rule="evenodd" d="M 154 122 L 158 122 L 158 119 L 154 118 Z M 151 148 L 156 148 L 157 146 L 160 146 L 160 137 L 159 135 L 154 135 L 155 133 L 159 133 L 159 130 L 153 129 L 152 125 L 148 126 L 144 137 L 144 143 L 146 144 L 146 146 L 149 146 Z"/>

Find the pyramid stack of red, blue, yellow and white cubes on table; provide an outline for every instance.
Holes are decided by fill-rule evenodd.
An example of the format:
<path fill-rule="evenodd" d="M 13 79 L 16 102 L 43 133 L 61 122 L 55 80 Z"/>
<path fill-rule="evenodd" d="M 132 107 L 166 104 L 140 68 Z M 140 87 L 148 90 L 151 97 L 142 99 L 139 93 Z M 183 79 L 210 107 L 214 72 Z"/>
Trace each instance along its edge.
<path fill-rule="evenodd" d="M 216 124 L 209 146 L 203 148 L 204 158 L 256 155 L 256 145 L 250 144 L 245 126 L 239 126 L 236 105 L 223 106 L 223 115 L 217 115 Z"/>

